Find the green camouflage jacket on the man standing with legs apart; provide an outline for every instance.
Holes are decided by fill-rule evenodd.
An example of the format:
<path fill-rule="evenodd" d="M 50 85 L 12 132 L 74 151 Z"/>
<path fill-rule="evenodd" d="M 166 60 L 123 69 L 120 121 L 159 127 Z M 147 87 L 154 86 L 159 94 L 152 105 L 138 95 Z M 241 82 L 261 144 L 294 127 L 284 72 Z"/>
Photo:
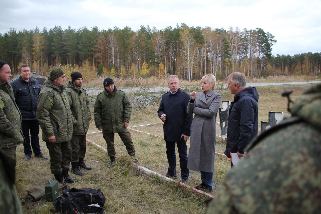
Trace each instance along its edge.
<path fill-rule="evenodd" d="M 94 119 L 96 127 L 102 126 L 103 133 L 118 133 L 125 131 L 124 121 L 129 123 L 132 115 L 132 104 L 121 90 L 108 94 L 106 89 L 97 95 L 94 106 Z"/>

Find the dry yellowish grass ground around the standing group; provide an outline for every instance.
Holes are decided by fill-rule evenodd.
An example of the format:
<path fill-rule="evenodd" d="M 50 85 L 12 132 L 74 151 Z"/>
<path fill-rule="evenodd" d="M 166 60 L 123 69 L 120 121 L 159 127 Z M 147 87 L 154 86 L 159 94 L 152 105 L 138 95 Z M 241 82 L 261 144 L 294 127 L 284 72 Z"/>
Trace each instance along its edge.
<path fill-rule="evenodd" d="M 165 83 L 164 83 L 165 85 Z M 292 89 L 291 98 L 295 98 L 308 89 L 308 85 L 281 85 L 257 87 L 259 92 L 259 121 L 267 121 L 268 111 L 283 111 L 287 114 L 287 99 L 280 94 L 284 89 Z M 233 95 L 228 89 L 220 89 L 222 100 L 231 101 Z M 162 139 L 162 124 L 157 116 L 160 100 L 155 100 L 152 107 L 133 108 L 130 127 L 144 124 L 158 123 L 147 127 L 135 127 L 133 129 L 151 133 L 144 133 L 130 130 L 136 148 L 136 155 L 141 165 L 159 174 L 166 174 L 167 159 L 165 154 L 165 143 Z M 91 111 L 93 111 L 91 109 Z M 219 121 L 219 120 L 217 120 Z M 219 128 L 219 126 L 218 126 Z M 89 132 L 96 132 L 93 120 L 90 122 Z M 154 136 L 156 135 L 156 136 Z M 73 178 L 78 182 L 71 184 L 75 188 L 101 188 L 106 197 L 104 209 L 107 213 L 203 213 L 206 210 L 206 196 L 197 195 L 193 191 L 185 189 L 178 183 L 166 182 L 157 176 L 149 176 L 139 171 L 131 163 L 125 146 L 118 135 L 115 135 L 115 149 L 117 153 L 116 165 L 108 169 L 109 158 L 107 153 L 101 148 L 87 144 L 86 164 L 92 167 L 91 171 L 85 171 L 83 176 Z M 159 136 L 159 137 L 157 137 Z M 218 129 L 217 136 L 220 136 Z M 87 135 L 91 141 L 106 148 L 106 143 L 102 134 Z M 41 139 L 41 135 L 40 135 Z M 189 141 L 187 141 L 189 144 Z M 40 140 L 40 147 L 45 156 L 49 157 L 45 143 Z M 223 153 L 225 142 L 217 138 L 216 151 Z M 43 185 L 51 180 L 53 175 L 50 172 L 49 160 L 31 158 L 24 161 L 23 146 L 19 145 L 16 151 L 17 174 L 16 188 L 20 199 L 24 199 L 22 204 L 24 213 L 56 213 L 52 203 L 41 199 L 37 202 L 26 200 L 26 191 L 35 186 Z M 220 156 L 215 158 L 214 187 L 218 188 L 224 174 L 230 169 L 230 162 Z M 129 174 L 124 173 L 129 171 Z M 178 179 L 180 181 L 179 163 L 177 160 Z M 195 186 L 201 182 L 200 173 L 191 171 L 187 184 Z M 215 195 L 217 190 L 212 192 Z M 61 192 L 60 192 L 61 194 Z"/>

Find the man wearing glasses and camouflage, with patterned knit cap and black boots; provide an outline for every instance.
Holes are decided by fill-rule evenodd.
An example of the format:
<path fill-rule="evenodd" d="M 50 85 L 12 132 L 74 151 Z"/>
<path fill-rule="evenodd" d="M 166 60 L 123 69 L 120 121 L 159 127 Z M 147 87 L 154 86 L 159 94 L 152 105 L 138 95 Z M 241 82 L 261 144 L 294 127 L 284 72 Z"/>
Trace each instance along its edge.
<path fill-rule="evenodd" d="M 77 180 L 68 174 L 73 123 L 65 80 L 66 75 L 62 69 L 54 67 L 50 70 L 38 97 L 37 119 L 42 130 L 42 140 L 49 150 L 51 173 L 63 184 L 64 189 L 69 189 L 66 183 Z"/>

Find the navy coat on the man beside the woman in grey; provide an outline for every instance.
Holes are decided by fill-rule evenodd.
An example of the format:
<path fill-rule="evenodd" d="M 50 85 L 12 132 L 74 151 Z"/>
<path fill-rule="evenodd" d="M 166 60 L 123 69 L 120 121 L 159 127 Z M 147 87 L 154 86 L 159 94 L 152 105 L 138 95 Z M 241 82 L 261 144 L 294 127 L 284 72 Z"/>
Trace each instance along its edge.
<path fill-rule="evenodd" d="M 175 94 L 170 91 L 163 94 L 157 113 L 159 117 L 166 114 L 163 124 L 165 141 L 180 141 L 182 134 L 190 136 L 193 115 L 188 115 L 186 111 L 189 99 L 189 94 L 180 89 Z"/>

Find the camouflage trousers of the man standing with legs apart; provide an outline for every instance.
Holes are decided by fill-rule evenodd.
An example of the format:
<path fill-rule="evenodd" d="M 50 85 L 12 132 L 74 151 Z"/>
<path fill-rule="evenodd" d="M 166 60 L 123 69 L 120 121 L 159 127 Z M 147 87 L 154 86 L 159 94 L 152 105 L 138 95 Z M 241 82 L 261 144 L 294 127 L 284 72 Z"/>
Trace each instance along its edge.
<path fill-rule="evenodd" d="M 126 146 L 127 152 L 130 156 L 134 156 L 136 151 L 134 147 L 134 143 L 132 141 L 132 137 L 130 135 L 130 132 L 126 129 L 126 131 L 118 132 L 117 133 L 120 137 L 120 139 L 123 141 L 124 145 Z M 107 144 L 107 153 L 108 156 L 115 156 L 115 146 L 114 146 L 114 133 L 110 134 L 103 134 L 104 139 L 106 140 Z"/>

